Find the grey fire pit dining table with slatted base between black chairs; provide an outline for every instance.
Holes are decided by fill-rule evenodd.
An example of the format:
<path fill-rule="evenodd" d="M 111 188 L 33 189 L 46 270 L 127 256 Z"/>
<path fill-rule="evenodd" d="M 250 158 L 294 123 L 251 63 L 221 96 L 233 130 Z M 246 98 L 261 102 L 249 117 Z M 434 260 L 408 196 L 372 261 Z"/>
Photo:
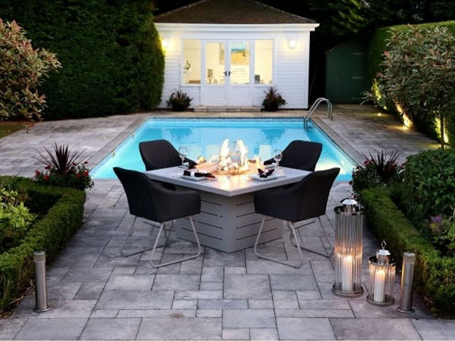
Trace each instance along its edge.
<path fill-rule="evenodd" d="M 146 171 L 152 180 L 191 188 L 201 197 L 200 214 L 194 217 L 200 244 L 225 252 L 234 252 L 255 244 L 262 216 L 255 213 L 254 193 L 302 180 L 309 171 L 279 167 L 279 176 L 267 180 L 252 175 L 216 175 L 210 178 L 188 178 L 183 168 L 170 167 Z M 177 237 L 195 242 L 188 218 L 175 222 Z M 282 220 L 267 217 L 260 243 L 282 237 Z"/>

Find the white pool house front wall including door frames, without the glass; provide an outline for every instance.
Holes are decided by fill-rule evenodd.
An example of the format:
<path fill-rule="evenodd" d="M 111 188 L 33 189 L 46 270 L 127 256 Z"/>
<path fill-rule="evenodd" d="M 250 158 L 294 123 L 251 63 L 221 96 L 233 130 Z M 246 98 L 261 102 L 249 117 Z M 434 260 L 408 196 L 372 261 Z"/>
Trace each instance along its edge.
<path fill-rule="evenodd" d="M 310 32 L 319 26 L 315 23 L 301 24 L 189 24 L 156 23 L 164 43 L 165 68 L 164 88 L 160 107 L 166 107 L 171 92 L 181 87 L 193 98 L 191 107 L 198 106 L 257 106 L 262 105 L 264 91 L 277 87 L 286 99 L 283 108 L 304 109 L 308 107 L 309 91 L 309 40 Z M 250 42 L 250 84 L 233 93 L 225 103 L 212 101 L 216 93 L 209 92 L 205 85 L 204 48 L 201 48 L 200 84 L 183 84 L 183 40 Z M 255 84 L 255 40 L 272 40 L 272 84 Z M 211 87 L 213 89 L 213 87 Z M 228 90 L 227 90 L 228 91 Z M 242 100 L 240 100 L 242 97 Z M 242 102 L 243 101 L 243 102 Z"/>

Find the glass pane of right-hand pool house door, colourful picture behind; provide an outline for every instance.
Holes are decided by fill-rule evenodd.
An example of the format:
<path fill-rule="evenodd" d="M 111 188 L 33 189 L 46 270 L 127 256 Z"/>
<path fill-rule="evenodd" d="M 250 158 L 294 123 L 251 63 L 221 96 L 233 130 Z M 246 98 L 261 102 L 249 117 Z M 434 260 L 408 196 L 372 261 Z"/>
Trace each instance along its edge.
<path fill-rule="evenodd" d="M 250 84 L 250 44 L 230 44 L 230 84 Z"/>

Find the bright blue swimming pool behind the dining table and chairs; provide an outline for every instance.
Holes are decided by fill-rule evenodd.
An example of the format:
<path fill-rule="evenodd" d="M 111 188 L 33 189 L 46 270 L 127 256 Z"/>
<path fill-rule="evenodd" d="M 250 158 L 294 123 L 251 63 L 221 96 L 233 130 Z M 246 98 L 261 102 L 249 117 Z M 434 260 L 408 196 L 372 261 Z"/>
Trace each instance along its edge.
<path fill-rule="evenodd" d="M 218 155 L 224 139 L 231 143 L 242 139 L 248 157 L 259 156 L 262 161 L 272 157 L 275 148 L 284 149 L 293 140 L 318 141 L 323 144 L 316 170 L 340 167 L 337 180 L 348 181 L 354 161 L 336 146 L 314 124 L 304 129 L 302 119 L 156 119 L 144 121 L 133 134 L 109 153 L 90 175 L 95 179 L 116 178 L 113 167 L 145 171 L 139 154 L 139 142 L 166 139 L 178 149 L 188 148 L 188 158 L 202 155 L 210 159 Z"/>

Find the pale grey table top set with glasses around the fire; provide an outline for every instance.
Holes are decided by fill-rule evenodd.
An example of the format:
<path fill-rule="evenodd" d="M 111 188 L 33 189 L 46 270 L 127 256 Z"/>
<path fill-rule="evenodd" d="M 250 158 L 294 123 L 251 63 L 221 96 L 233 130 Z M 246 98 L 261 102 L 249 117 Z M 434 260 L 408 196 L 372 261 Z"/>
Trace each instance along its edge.
<path fill-rule="evenodd" d="M 216 175 L 215 179 L 188 180 L 182 178 L 183 168 L 181 167 L 161 168 L 155 171 L 146 171 L 145 173 L 152 180 L 233 197 L 235 195 L 256 192 L 257 190 L 297 183 L 311 172 L 279 167 L 279 174 L 282 176 L 265 181 L 254 180 L 252 175 Z"/>

